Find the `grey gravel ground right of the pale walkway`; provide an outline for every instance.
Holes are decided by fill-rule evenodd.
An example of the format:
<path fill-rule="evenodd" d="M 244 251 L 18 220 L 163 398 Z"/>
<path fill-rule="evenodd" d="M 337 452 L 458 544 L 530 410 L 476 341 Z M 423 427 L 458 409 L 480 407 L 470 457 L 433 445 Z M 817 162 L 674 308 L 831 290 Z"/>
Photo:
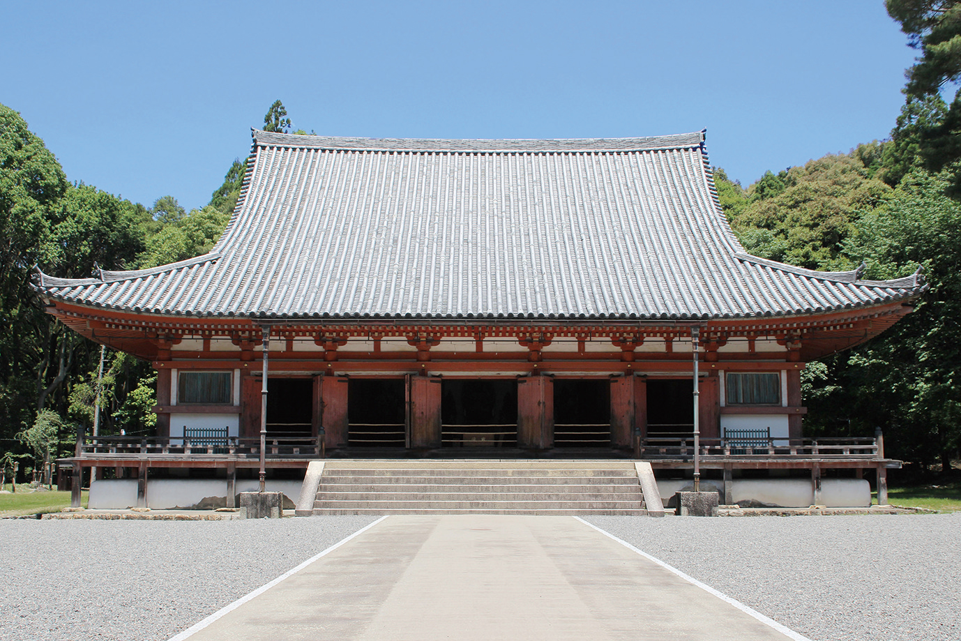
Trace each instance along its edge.
<path fill-rule="evenodd" d="M 815 641 L 961 639 L 961 512 L 586 520 Z"/>

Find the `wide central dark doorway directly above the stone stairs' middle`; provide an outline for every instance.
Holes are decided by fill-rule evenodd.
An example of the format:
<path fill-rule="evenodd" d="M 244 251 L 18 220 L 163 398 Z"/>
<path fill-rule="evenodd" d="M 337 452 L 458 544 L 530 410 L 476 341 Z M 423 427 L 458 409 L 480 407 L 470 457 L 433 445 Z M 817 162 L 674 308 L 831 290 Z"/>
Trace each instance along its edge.
<path fill-rule="evenodd" d="M 444 447 L 517 445 L 517 381 L 445 380 L 441 384 Z"/>

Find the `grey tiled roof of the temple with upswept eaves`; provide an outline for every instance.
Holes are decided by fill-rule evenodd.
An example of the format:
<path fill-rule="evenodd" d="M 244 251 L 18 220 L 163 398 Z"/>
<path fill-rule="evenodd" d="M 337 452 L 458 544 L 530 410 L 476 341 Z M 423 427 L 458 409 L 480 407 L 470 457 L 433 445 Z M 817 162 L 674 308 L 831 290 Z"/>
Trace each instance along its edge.
<path fill-rule="evenodd" d="M 870 306 L 890 282 L 745 254 L 703 134 L 420 140 L 254 131 L 253 162 L 206 256 L 44 296 L 228 317 L 707 319 Z"/>

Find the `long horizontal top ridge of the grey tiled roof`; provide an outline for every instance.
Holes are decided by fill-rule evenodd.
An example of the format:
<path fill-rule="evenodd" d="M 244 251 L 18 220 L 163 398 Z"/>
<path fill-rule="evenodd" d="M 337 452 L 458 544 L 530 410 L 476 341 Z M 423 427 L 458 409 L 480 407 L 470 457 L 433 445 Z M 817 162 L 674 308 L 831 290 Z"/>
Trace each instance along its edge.
<path fill-rule="evenodd" d="M 623 138 L 365 138 L 280 134 L 251 129 L 255 145 L 332 151 L 449 152 L 516 154 L 542 152 L 625 152 L 689 149 L 704 132 Z"/>

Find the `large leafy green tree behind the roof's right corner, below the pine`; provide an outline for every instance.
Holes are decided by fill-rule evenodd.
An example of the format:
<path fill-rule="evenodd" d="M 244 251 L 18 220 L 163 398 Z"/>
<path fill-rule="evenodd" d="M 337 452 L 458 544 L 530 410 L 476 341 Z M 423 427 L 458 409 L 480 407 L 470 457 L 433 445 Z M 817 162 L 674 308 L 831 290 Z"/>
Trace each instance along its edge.
<path fill-rule="evenodd" d="M 930 289 L 893 328 L 829 359 L 808 402 L 816 431 L 882 427 L 889 455 L 921 469 L 941 463 L 946 473 L 961 447 L 961 205 L 944 194 L 950 180 L 915 169 L 857 222 L 844 249 L 867 260 L 867 278 L 896 278 L 921 264 Z"/>

